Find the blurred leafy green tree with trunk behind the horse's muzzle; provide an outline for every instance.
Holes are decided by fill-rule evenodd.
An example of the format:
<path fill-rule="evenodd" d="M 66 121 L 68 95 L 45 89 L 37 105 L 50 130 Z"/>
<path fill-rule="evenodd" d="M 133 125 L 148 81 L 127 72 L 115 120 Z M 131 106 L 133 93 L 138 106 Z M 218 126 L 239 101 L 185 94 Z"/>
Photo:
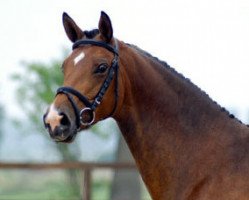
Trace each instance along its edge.
<path fill-rule="evenodd" d="M 45 108 L 54 99 L 56 89 L 62 84 L 63 76 L 60 70 L 61 61 L 53 60 L 49 64 L 44 63 L 22 63 L 23 71 L 13 74 L 12 79 L 18 82 L 17 100 L 27 116 L 30 126 L 38 132 L 44 132 L 42 115 Z M 47 135 L 47 134 L 42 134 Z M 76 161 L 74 153 L 77 150 L 77 143 L 74 145 L 56 144 L 55 145 L 63 161 Z M 79 183 L 77 172 L 67 170 L 69 187 L 74 195 L 79 196 Z"/>

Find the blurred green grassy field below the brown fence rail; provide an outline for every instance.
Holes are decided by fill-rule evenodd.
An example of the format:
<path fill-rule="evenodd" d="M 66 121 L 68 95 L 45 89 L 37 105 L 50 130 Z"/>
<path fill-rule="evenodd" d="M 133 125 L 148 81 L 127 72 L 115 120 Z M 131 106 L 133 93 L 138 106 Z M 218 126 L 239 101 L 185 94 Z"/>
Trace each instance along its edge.
<path fill-rule="evenodd" d="M 72 188 L 62 170 L 0 171 L 0 200 L 80 200 L 83 175 L 77 174 L 78 188 Z M 110 200 L 112 173 L 103 170 L 93 177 L 92 200 Z M 150 200 L 146 192 L 143 200 Z"/>

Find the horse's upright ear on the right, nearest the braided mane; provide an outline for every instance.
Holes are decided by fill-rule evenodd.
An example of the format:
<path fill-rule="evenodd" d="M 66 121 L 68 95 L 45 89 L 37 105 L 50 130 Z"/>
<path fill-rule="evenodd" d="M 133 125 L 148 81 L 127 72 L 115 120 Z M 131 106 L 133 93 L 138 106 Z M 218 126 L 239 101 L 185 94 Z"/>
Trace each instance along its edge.
<path fill-rule="evenodd" d="M 100 19 L 99 19 L 99 32 L 102 38 L 109 43 L 113 36 L 112 23 L 109 16 L 101 11 Z"/>

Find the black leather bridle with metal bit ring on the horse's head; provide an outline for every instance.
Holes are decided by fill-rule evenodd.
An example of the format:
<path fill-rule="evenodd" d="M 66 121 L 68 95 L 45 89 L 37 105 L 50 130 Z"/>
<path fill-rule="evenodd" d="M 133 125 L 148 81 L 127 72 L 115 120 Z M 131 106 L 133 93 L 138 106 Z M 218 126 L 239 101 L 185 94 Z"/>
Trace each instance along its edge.
<path fill-rule="evenodd" d="M 72 87 L 58 88 L 56 95 L 65 94 L 73 107 L 73 110 L 76 116 L 76 126 L 78 129 L 80 128 L 80 125 L 90 126 L 94 122 L 95 109 L 100 105 L 108 87 L 111 84 L 111 81 L 114 75 L 115 75 L 115 91 L 114 91 L 115 105 L 113 107 L 112 112 L 107 117 L 110 117 L 114 114 L 116 107 L 117 107 L 117 101 L 118 101 L 118 57 L 119 57 L 119 54 L 118 54 L 117 41 L 115 40 L 115 46 L 112 47 L 111 45 L 105 42 L 82 39 L 82 40 L 76 41 L 73 44 L 73 50 L 78 47 L 85 46 L 85 45 L 94 45 L 94 46 L 105 48 L 106 50 L 114 54 L 114 58 L 112 60 L 111 66 L 109 67 L 109 71 L 106 76 L 106 79 L 104 80 L 102 86 L 100 87 L 100 90 L 98 91 L 97 95 L 95 96 L 92 102 L 89 101 L 89 99 L 86 96 L 84 96 L 83 94 L 81 94 L 79 91 L 75 90 Z M 80 110 L 72 96 L 76 96 L 86 107 Z M 84 115 L 88 116 L 87 120 L 84 118 Z"/>

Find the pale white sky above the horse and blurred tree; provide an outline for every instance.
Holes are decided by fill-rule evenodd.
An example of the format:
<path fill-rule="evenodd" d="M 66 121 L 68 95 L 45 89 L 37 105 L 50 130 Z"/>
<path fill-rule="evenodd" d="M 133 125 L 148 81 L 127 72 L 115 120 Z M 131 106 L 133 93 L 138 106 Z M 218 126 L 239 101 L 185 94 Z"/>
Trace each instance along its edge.
<path fill-rule="evenodd" d="M 249 118 L 248 0 L 1 0 L 0 102 L 8 114 L 17 106 L 9 75 L 20 62 L 49 62 L 71 48 L 62 13 L 92 29 L 101 10 L 116 38 L 166 61 L 240 119 Z"/>

